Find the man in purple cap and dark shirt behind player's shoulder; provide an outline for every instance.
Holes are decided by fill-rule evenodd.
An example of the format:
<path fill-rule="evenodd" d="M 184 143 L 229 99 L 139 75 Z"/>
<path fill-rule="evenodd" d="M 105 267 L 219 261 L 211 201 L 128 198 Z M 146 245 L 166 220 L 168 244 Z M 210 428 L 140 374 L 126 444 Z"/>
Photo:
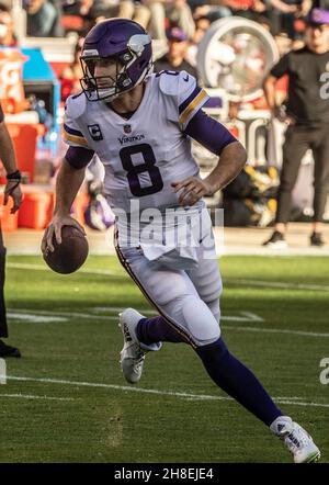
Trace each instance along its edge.
<path fill-rule="evenodd" d="M 155 63 L 155 70 L 185 70 L 197 79 L 196 69 L 185 60 L 189 47 L 186 34 L 180 27 L 167 32 L 169 52 Z"/>

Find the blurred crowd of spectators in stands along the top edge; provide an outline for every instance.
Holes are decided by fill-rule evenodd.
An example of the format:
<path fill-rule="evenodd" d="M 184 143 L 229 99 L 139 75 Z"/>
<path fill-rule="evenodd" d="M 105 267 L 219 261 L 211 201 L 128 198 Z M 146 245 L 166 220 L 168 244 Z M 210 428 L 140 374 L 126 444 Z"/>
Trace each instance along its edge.
<path fill-rule="evenodd" d="M 11 4 L 12 0 L 0 1 L 0 25 L 5 25 L 3 12 L 10 14 Z M 167 38 L 169 25 L 179 26 L 190 42 L 198 40 L 209 23 L 230 15 L 261 22 L 273 35 L 295 38 L 311 5 L 329 8 L 329 0 L 23 0 L 30 36 L 69 32 L 83 36 L 95 23 L 122 16 L 140 23 L 157 40 Z"/>

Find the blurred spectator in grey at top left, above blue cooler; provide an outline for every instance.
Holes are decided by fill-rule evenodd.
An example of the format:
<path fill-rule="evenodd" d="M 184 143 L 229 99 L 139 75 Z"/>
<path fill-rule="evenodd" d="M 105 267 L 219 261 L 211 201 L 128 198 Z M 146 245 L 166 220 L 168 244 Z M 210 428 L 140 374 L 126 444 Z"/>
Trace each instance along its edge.
<path fill-rule="evenodd" d="M 54 2 L 57 0 L 54 0 Z M 32 37 L 60 37 L 60 15 L 48 0 L 25 0 L 27 35 Z"/>

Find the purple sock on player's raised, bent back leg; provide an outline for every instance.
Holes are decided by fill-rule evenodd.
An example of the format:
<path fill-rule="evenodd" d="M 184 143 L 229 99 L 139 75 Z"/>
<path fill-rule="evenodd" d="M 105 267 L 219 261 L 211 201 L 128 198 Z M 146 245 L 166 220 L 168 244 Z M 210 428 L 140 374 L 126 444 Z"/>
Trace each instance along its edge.
<path fill-rule="evenodd" d="M 138 340 L 147 346 L 157 342 L 186 342 L 186 339 L 160 316 L 141 318 L 138 322 L 136 334 Z"/>

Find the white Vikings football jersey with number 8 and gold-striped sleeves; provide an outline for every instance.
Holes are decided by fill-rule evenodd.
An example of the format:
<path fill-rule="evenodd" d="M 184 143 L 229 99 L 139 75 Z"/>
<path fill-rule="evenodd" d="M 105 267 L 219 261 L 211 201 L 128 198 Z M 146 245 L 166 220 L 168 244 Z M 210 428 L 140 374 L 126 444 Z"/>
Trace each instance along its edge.
<path fill-rule="evenodd" d="M 191 139 L 183 133 L 208 95 L 185 71 L 162 71 L 146 81 L 141 103 L 129 120 L 83 93 L 67 100 L 65 140 L 97 153 L 105 168 L 104 189 L 112 208 L 178 205 L 171 182 L 198 176 Z"/>

